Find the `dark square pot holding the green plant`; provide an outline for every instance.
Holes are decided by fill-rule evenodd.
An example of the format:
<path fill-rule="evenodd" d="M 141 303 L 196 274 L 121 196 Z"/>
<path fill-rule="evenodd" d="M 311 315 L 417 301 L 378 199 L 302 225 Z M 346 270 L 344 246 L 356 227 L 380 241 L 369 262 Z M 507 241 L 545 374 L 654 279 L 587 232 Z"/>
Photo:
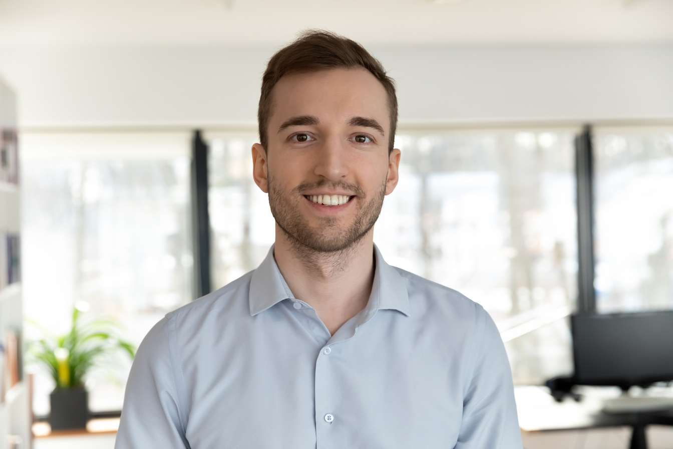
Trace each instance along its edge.
<path fill-rule="evenodd" d="M 57 388 L 49 395 L 52 430 L 84 429 L 89 419 L 89 394 L 83 387 Z"/>

